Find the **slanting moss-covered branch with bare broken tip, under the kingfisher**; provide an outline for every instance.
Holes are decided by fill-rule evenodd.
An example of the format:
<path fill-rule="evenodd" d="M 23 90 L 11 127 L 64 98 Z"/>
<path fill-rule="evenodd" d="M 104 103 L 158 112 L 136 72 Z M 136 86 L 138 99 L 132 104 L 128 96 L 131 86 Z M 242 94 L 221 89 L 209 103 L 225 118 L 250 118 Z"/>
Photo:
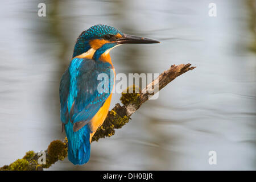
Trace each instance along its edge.
<path fill-rule="evenodd" d="M 123 106 L 115 104 L 114 108 L 109 111 L 104 123 L 98 128 L 92 138 L 93 141 L 98 141 L 100 138 L 111 137 L 114 135 L 114 129 L 120 129 L 130 120 L 131 114 L 135 113 L 139 107 L 146 102 L 151 96 L 164 88 L 168 83 L 174 80 L 176 77 L 183 73 L 192 70 L 196 67 L 191 67 L 191 64 L 179 64 L 172 65 L 170 69 L 164 71 L 158 78 L 152 81 L 143 90 L 140 90 L 138 86 L 130 86 L 127 88 L 126 93 L 122 93 L 120 98 Z M 133 90 L 131 93 L 129 90 Z M 135 92 L 136 91 L 136 92 Z M 49 168 L 52 164 L 58 160 L 64 160 L 68 154 L 68 140 L 64 141 L 54 140 L 52 141 L 46 153 L 46 164 L 39 164 L 38 159 L 40 153 L 34 151 L 28 151 L 22 159 L 18 159 L 11 163 L 9 166 L 3 166 L 0 170 L 43 170 L 43 168 Z"/>

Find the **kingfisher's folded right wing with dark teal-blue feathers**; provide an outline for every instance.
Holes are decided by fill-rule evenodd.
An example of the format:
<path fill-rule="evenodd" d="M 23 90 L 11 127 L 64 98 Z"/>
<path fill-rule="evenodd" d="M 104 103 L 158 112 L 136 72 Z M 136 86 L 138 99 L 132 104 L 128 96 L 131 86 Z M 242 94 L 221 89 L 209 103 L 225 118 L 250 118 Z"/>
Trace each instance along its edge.
<path fill-rule="evenodd" d="M 76 60 L 81 59 L 73 59 L 72 62 Z M 82 60 L 76 77 L 79 88 L 76 89 L 77 95 L 72 116 L 72 122 L 74 123 L 92 119 L 109 97 L 114 84 L 111 81 L 114 79 L 111 64 L 89 59 Z M 103 93 L 98 93 L 98 86 L 104 84 L 104 82 L 98 80 L 100 74 L 105 74 L 108 77 L 106 81 L 108 81 L 109 85 L 106 86 L 108 86 L 109 90 L 104 90 L 106 92 Z"/>

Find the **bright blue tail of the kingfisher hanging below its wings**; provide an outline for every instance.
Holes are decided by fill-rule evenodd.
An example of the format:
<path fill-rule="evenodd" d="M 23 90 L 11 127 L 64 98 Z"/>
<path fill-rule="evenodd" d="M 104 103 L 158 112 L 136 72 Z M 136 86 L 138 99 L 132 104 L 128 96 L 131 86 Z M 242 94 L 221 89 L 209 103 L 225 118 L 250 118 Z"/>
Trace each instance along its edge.
<path fill-rule="evenodd" d="M 73 125 L 68 122 L 65 125 L 68 138 L 68 159 L 73 164 L 85 164 L 90 159 L 90 130 L 88 125 L 79 131 L 73 131 Z"/>

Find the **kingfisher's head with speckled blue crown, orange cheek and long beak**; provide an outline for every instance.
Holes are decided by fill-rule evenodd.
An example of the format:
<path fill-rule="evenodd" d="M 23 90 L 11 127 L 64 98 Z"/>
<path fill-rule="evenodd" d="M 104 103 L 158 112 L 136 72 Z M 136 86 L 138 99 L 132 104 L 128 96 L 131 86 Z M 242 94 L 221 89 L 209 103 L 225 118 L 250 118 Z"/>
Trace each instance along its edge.
<path fill-rule="evenodd" d="M 159 43 L 156 40 L 123 34 L 114 27 L 98 24 L 82 32 L 77 39 L 73 57 L 97 60 L 104 53 L 121 44 Z"/>

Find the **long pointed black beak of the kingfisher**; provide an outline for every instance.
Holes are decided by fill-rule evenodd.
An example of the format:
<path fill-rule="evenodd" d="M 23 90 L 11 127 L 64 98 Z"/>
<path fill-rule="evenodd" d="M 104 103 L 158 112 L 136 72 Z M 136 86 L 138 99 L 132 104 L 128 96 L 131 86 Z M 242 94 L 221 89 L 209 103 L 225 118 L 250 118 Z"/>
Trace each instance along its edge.
<path fill-rule="evenodd" d="M 118 44 L 155 44 L 160 42 L 153 39 L 142 38 L 141 36 L 123 34 L 123 37 L 120 39 L 117 39 L 116 43 Z"/>

